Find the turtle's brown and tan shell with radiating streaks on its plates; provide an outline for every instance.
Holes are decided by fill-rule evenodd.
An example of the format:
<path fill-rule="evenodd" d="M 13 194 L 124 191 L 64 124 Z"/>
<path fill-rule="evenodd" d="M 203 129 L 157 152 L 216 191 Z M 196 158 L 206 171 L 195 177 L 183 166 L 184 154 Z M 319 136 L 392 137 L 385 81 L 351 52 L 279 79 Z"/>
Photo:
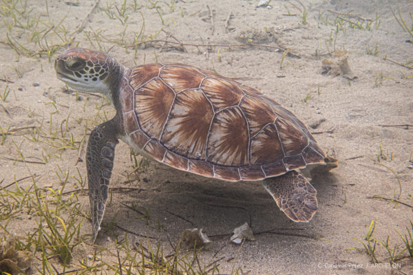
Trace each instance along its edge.
<path fill-rule="evenodd" d="M 164 164 L 226 181 L 282 175 L 326 156 L 297 117 L 231 78 L 182 64 L 130 68 L 125 132 Z"/>

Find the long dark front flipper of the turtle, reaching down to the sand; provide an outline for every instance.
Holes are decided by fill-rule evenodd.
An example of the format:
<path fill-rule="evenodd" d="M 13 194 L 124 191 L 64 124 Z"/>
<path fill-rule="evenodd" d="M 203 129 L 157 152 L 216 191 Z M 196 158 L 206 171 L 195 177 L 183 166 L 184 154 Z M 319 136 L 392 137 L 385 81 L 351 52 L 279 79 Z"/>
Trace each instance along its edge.
<path fill-rule="evenodd" d="M 94 243 L 105 214 L 109 181 L 114 166 L 116 125 L 114 120 L 104 122 L 92 131 L 87 143 L 86 167 Z"/>

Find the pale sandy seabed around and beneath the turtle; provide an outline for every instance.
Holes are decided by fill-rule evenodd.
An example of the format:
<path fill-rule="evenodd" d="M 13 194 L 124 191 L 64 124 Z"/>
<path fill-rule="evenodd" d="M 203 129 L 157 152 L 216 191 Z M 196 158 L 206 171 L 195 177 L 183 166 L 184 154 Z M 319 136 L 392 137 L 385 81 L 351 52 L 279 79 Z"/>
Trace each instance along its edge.
<path fill-rule="evenodd" d="M 17 8 L 22 9 L 18 2 Z M 40 189 L 61 188 L 59 176 L 65 173 L 69 173 L 65 191 L 80 188 L 75 178 L 79 173 L 85 180 L 85 162 L 75 162 L 78 147 L 83 148 L 79 142 L 85 123 L 87 140 L 96 124 L 114 115 L 103 98 L 65 93 L 53 68 L 57 53 L 50 60 L 47 51 L 39 54 L 46 47 L 44 41 L 49 46 L 63 43 L 66 30 L 74 45 L 110 50 L 127 66 L 179 62 L 241 78 L 293 111 L 310 126 L 321 148 L 339 159 L 339 167 L 330 174 L 312 179 L 319 201 L 313 220 L 294 223 L 260 183 L 206 179 L 146 160 L 137 176 L 129 147 L 120 142 L 111 181 L 117 189 L 103 219 L 104 229 L 112 224 L 151 236 L 149 244 L 134 234 L 128 234 L 128 241 L 160 244 L 169 254 L 173 252 L 169 239 L 176 245 L 184 229 L 203 228 L 213 244 L 200 252 L 200 261 L 208 265 L 218 260 L 221 274 L 231 274 L 234 266 L 244 274 L 413 273 L 411 258 L 390 264 L 388 252 L 377 243 L 379 263 L 374 264 L 354 239 L 363 240 L 375 221 L 373 237 L 383 242 L 389 237 L 399 258 L 408 256 L 397 232 L 407 234 L 413 217 L 413 71 L 407 68 L 413 65 L 413 37 L 401 28 L 392 10 L 398 16 L 399 8 L 412 28 L 412 1 L 273 0 L 269 7 L 257 8 L 258 1 L 186 0 L 162 1 L 158 10 L 150 1 L 138 1 L 134 10 L 134 2 L 127 1 L 123 16 L 123 1 L 102 0 L 96 7 L 95 1 L 49 0 L 47 7 L 40 2 L 27 1 L 32 10 L 25 13 L 23 25 L 27 18 L 42 23 L 34 26 L 29 20 L 26 30 L 13 25 L 10 14 L 1 15 L 0 93 L 10 89 L 10 94 L 0 102 L 0 126 L 2 131 L 10 126 L 12 132 L 3 135 L 6 139 L 0 146 L 1 193 L 15 190 L 15 185 L 9 186 L 15 179 L 34 174 Z M 359 25 L 351 27 L 350 22 Z M 34 30 L 41 31 L 36 36 L 41 46 L 36 37 L 30 41 Z M 131 45 L 138 35 L 138 41 L 161 41 L 142 43 L 136 50 L 116 43 Z M 8 37 L 31 52 L 19 46 L 13 50 Z M 191 45 L 182 50 L 165 40 Z M 248 43 L 254 45 L 224 47 Z M 194 46 L 207 44 L 218 46 Z M 288 49 L 288 54 L 283 55 L 282 49 Z M 43 131 L 39 142 L 33 142 L 31 137 L 39 129 Z M 76 142 L 73 146 L 51 138 L 70 135 Z M 30 162 L 14 161 L 22 156 Z M 80 157 L 85 159 L 85 150 Z M 32 185 L 30 178 L 19 181 L 21 188 Z M 406 205 L 372 199 L 374 195 Z M 87 192 L 79 192 L 78 199 L 87 212 Z M 0 201 L 4 203 L 6 197 Z M 142 219 L 128 208 L 132 205 L 149 218 Z M 240 248 L 229 238 L 245 221 L 256 241 L 245 241 Z M 8 233 L 23 238 L 36 227 L 36 214 L 23 208 L 19 217 L 0 220 L 2 227 L 6 223 Z M 83 221 L 81 233 L 91 230 L 89 221 Z M 0 232 L 5 234 L 3 229 Z M 124 234 L 116 227 L 103 230 L 96 244 L 116 254 L 114 241 Z M 93 250 L 89 241 L 76 247 L 72 269 Z M 107 257 L 112 261 L 113 256 Z M 51 261 L 61 270 L 56 259 Z M 29 273 L 36 274 L 39 266 L 34 260 Z"/>

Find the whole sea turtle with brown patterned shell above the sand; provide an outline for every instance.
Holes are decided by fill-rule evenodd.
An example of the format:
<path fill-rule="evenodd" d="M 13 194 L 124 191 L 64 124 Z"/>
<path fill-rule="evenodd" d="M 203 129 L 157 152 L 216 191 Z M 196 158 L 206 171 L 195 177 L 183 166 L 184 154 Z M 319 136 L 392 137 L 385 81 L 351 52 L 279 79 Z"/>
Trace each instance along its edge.
<path fill-rule="evenodd" d="M 60 54 L 54 67 L 69 87 L 104 94 L 116 108 L 87 144 L 92 241 L 105 212 L 118 139 L 179 170 L 261 181 L 293 221 L 308 222 L 317 210 L 317 192 L 299 170 L 337 166 L 293 113 L 237 80 L 180 63 L 125 67 L 76 47 Z"/>

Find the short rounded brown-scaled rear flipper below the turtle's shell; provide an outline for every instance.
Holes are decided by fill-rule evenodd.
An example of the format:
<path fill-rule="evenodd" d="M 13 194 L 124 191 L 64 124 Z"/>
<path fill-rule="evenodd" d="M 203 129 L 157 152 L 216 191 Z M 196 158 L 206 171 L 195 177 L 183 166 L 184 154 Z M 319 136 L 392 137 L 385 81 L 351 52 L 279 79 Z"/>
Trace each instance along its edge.
<path fill-rule="evenodd" d="M 262 185 L 288 218 L 301 222 L 313 218 L 317 210 L 317 190 L 297 171 L 265 179 Z"/>

